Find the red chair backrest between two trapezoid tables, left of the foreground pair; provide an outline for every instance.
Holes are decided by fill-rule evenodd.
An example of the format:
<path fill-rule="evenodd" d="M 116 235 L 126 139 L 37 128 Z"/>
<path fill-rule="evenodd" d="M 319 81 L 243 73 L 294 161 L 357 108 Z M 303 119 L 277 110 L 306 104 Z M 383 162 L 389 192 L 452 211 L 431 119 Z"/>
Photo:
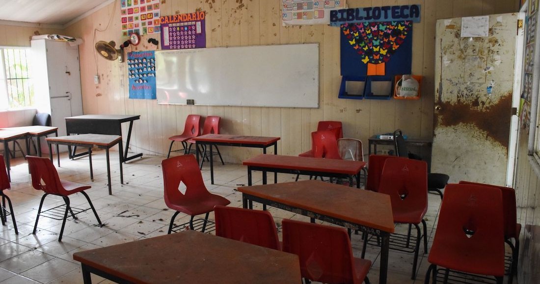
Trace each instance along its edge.
<path fill-rule="evenodd" d="M 280 250 L 278 230 L 268 211 L 216 205 L 215 235 Z"/>

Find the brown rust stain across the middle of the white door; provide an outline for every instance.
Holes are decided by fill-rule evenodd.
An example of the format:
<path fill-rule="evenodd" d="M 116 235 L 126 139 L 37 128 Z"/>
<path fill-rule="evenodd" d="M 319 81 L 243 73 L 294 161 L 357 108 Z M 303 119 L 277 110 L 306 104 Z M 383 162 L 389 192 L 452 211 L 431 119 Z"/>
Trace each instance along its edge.
<path fill-rule="evenodd" d="M 487 133 L 508 150 L 512 94 L 503 96 L 495 105 L 479 109 L 478 101 L 473 103 L 458 101 L 457 103 L 440 102 L 436 116 L 440 126 L 457 126 L 460 123 L 472 124 Z M 437 121 L 437 120 L 436 120 Z"/>

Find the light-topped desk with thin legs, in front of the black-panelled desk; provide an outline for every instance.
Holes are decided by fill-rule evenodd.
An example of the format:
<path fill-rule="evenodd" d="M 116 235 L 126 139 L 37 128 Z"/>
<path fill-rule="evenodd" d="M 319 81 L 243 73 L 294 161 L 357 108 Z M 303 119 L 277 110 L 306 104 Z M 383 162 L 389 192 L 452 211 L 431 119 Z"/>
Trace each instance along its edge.
<path fill-rule="evenodd" d="M 104 135 L 104 134 L 80 134 L 80 135 L 68 135 L 59 137 L 45 138 L 49 144 L 49 156 L 52 161 L 52 144 L 67 145 L 67 146 L 79 146 L 88 148 L 88 158 L 90 161 L 90 179 L 94 179 L 94 173 L 92 169 L 92 147 L 96 146 L 100 149 L 105 149 L 107 156 L 107 181 L 109 182 L 109 195 L 112 195 L 111 190 L 111 163 L 109 159 L 109 149 L 118 144 L 119 153 L 119 166 L 120 166 L 120 183 L 124 184 L 124 172 L 122 169 L 122 162 L 124 156 L 122 155 L 122 136 L 119 135 Z M 58 156 L 58 167 L 60 167 L 60 154 Z"/>

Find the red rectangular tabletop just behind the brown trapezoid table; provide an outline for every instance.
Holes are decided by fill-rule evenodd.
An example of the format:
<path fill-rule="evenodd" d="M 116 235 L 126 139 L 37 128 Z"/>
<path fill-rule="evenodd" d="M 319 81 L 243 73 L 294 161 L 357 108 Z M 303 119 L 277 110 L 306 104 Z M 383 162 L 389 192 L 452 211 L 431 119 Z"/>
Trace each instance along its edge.
<path fill-rule="evenodd" d="M 291 170 L 333 172 L 356 175 L 366 162 L 335 159 L 261 154 L 243 162 L 244 165 Z"/>

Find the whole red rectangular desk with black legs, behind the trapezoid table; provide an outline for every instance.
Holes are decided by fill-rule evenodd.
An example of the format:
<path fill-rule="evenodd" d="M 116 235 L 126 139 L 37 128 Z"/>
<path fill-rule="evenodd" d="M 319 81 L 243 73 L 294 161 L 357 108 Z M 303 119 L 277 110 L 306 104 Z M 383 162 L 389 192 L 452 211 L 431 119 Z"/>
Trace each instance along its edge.
<path fill-rule="evenodd" d="M 252 185 L 251 171 L 262 171 L 262 184 L 266 184 L 266 171 L 310 176 L 349 178 L 356 176 L 356 188 L 360 188 L 360 171 L 366 162 L 284 155 L 259 155 L 243 162 L 247 165 L 247 183 Z M 275 183 L 275 181 L 274 181 Z"/>

